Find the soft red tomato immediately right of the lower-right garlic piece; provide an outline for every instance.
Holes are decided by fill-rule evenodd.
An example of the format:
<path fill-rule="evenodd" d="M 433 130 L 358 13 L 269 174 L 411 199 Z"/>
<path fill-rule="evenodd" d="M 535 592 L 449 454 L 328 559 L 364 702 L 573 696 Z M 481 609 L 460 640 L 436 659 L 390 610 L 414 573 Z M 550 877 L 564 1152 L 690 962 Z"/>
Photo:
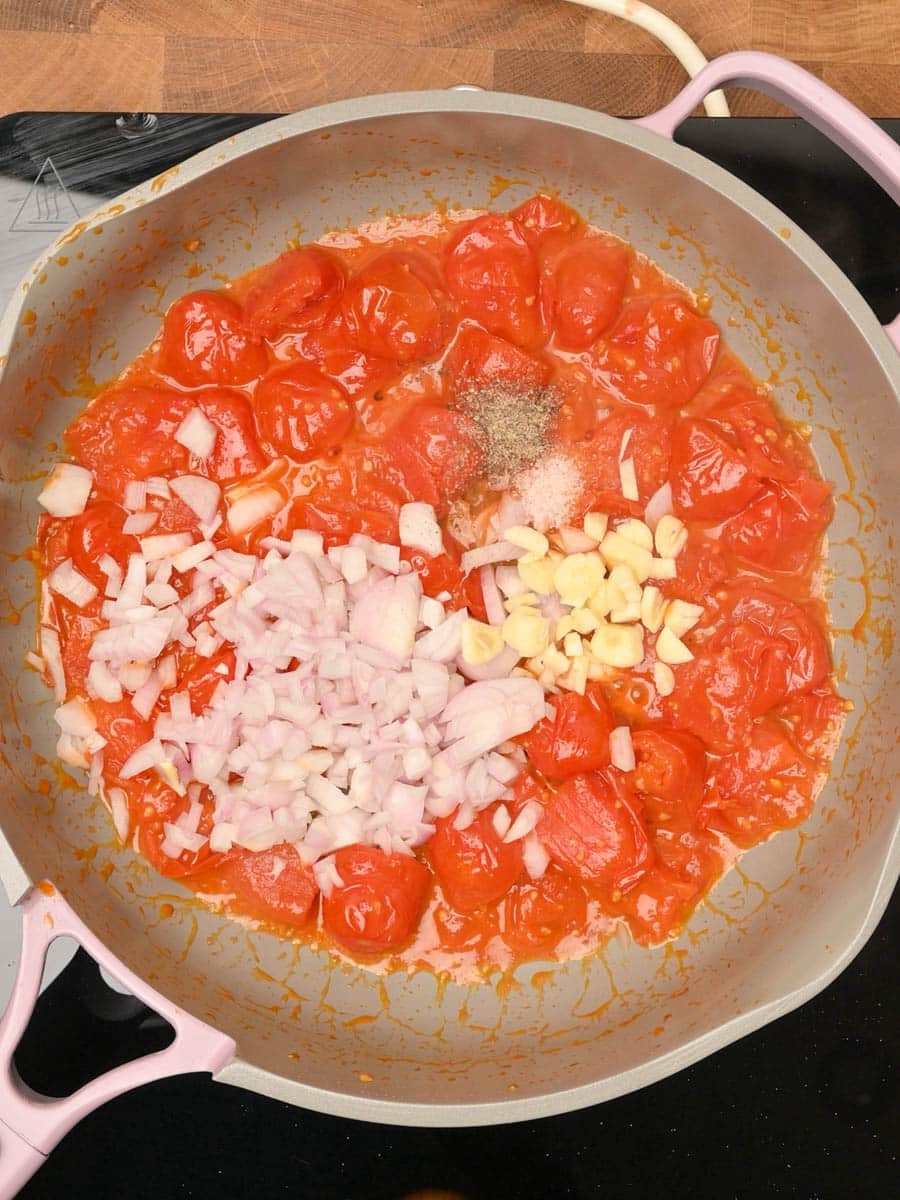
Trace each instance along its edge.
<path fill-rule="evenodd" d="M 696 734 L 713 750 L 746 738 L 752 720 L 754 680 L 731 647 L 701 650 L 677 668 L 677 686 L 662 702 L 667 722 Z"/>

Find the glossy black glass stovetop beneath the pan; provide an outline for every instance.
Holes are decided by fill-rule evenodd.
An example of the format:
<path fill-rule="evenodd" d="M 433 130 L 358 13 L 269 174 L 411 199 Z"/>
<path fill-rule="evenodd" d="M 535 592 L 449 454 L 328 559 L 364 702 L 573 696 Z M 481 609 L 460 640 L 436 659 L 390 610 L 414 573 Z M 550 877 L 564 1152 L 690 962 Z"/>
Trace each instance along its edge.
<path fill-rule="evenodd" d="M 264 119 L 161 116 L 136 173 L 130 143 L 108 114 L 19 114 L 0 120 L 0 174 L 32 180 L 52 155 L 68 186 L 112 196 Z M 900 140 L 900 120 L 881 124 Z M 787 212 L 882 320 L 896 314 L 896 209 L 824 138 L 794 120 L 706 118 L 688 121 L 678 140 Z M 869 944 L 821 996 L 668 1080 L 582 1112 L 500 1128 L 402 1129 L 305 1112 L 191 1075 L 88 1117 L 22 1196 L 896 1194 L 899 944 L 895 896 Z M 98 1000 L 92 965 L 77 956 L 42 997 L 17 1061 L 26 1079 L 61 1094 L 166 1037 L 146 1009 Z"/>

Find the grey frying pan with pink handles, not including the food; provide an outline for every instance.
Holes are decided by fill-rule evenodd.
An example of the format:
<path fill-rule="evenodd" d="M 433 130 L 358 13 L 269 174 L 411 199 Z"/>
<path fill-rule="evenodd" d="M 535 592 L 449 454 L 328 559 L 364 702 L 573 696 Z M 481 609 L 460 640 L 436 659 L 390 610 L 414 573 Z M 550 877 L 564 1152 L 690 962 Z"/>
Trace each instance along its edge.
<path fill-rule="evenodd" d="M 401 1124 L 487 1124 L 594 1104 L 803 1003 L 868 938 L 900 864 L 900 678 L 890 653 L 900 326 L 882 330 L 787 217 L 672 144 L 702 96 L 728 83 L 792 104 L 900 200 L 900 150 L 886 134 L 800 68 L 732 54 L 637 122 L 475 91 L 374 96 L 276 120 L 79 222 L 23 282 L 0 325 L 8 552 L 0 586 L 10 613 L 23 614 L 0 624 L 10 696 L 0 876 L 24 918 L 0 1027 L 4 1194 L 84 1114 L 180 1072 Z M 824 586 L 836 670 L 854 710 L 812 817 L 746 854 L 677 942 L 646 950 L 613 940 L 584 962 L 532 964 L 496 986 L 448 985 L 426 972 L 378 978 L 208 912 L 114 844 L 100 804 L 52 766 L 53 703 L 23 667 L 35 590 L 22 554 L 62 428 L 88 389 L 151 340 L 175 295 L 218 286 L 292 236 L 444 199 L 508 208 L 542 186 L 709 293 L 737 352 L 809 425 L 836 485 Z M 62 934 L 176 1036 L 168 1049 L 48 1100 L 18 1080 L 12 1052 L 47 944 Z"/>

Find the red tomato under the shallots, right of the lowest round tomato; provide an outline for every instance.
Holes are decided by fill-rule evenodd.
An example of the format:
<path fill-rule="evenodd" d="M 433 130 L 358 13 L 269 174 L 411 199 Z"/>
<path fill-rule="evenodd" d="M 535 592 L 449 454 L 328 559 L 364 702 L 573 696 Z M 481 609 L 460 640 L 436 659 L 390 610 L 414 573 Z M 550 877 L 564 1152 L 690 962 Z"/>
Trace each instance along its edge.
<path fill-rule="evenodd" d="M 466 829 L 439 817 L 428 859 L 440 889 L 457 912 L 472 913 L 504 896 L 522 874 L 522 842 L 504 842 L 493 827 L 497 805 L 482 809 Z"/>

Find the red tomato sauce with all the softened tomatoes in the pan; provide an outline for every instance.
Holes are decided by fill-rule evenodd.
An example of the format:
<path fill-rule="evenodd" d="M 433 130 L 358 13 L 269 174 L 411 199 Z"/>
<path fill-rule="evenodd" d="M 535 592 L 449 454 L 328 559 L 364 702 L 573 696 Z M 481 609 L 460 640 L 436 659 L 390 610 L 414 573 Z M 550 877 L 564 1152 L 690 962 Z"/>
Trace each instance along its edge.
<path fill-rule="evenodd" d="M 446 526 L 445 552 L 404 557 L 427 594 L 485 619 L 448 520 L 462 505 L 476 526 L 497 502 L 452 407 L 463 383 L 492 379 L 558 389 L 556 439 L 589 463 L 582 514 L 641 516 L 671 485 L 689 541 L 661 589 L 703 606 L 671 695 L 613 672 L 584 695 L 548 697 L 552 719 L 521 739 L 527 766 L 508 804 L 542 808 L 542 877 L 524 870 L 520 842 L 498 836 L 490 809 L 464 830 L 440 818 L 415 858 L 340 850 L 343 887 L 329 898 L 289 846 L 206 845 L 173 859 L 162 828 L 187 799 L 151 774 L 116 774 L 152 736 L 154 713 L 139 715 L 128 696 L 91 702 L 106 798 L 124 797 L 130 839 L 157 871 L 365 964 L 508 967 L 587 953 L 623 923 L 641 943 L 668 938 L 739 850 L 809 815 L 840 730 L 816 590 L 830 492 L 803 436 L 680 284 L 548 196 L 508 214 L 348 230 L 176 300 L 154 344 L 68 428 L 95 491 L 80 516 L 41 518 L 42 570 L 72 558 L 101 587 L 101 556 L 124 569 L 137 548 L 122 528 L 134 480 L 192 472 L 228 491 L 262 478 L 280 510 L 240 538 L 221 526 L 217 546 L 253 552 L 300 528 L 326 546 L 354 533 L 398 544 L 400 506 L 425 500 Z M 217 431 L 203 467 L 174 438 L 198 407 Z M 619 481 L 626 430 L 637 502 Z M 176 498 L 148 503 L 154 533 L 193 520 Z M 86 695 L 101 604 L 49 601 L 70 696 Z M 234 654 L 181 648 L 175 670 L 199 713 Z M 622 724 L 632 772 L 610 762 Z M 212 820 L 202 803 L 200 834 Z"/>

